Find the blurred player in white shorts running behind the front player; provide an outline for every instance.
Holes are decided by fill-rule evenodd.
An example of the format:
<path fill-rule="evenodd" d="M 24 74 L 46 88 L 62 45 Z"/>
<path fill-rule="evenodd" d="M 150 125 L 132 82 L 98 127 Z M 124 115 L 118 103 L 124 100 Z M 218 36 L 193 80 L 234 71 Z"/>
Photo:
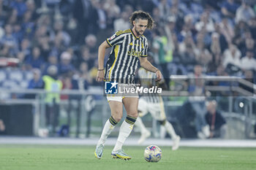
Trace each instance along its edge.
<path fill-rule="evenodd" d="M 148 55 L 148 61 L 151 61 L 153 58 Z M 151 61 L 152 63 L 153 61 Z M 152 74 L 151 72 L 146 71 L 145 69 L 140 69 L 138 72 L 138 77 L 140 78 L 140 85 L 149 86 L 148 88 L 151 88 L 152 86 L 159 86 L 162 85 L 163 87 L 165 86 L 165 81 L 162 80 L 161 82 L 156 82 L 154 81 L 155 75 Z M 166 120 L 166 115 L 165 115 L 165 107 L 164 103 L 162 100 L 162 96 L 159 96 L 159 94 L 154 94 L 152 93 L 151 95 L 148 96 L 142 96 L 140 97 L 139 100 L 139 105 L 138 105 L 138 115 L 135 125 L 138 126 L 140 130 L 140 139 L 138 141 L 139 144 L 142 144 L 146 138 L 148 138 L 151 133 L 148 131 L 143 124 L 142 120 L 140 117 L 143 117 L 147 113 L 150 113 L 151 116 L 158 120 L 161 125 L 163 125 L 167 131 L 167 133 L 171 136 L 173 139 L 173 150 L 178 150 L 179 146 L 179 141 L 180 141 L 180 136 L 176 135 L 176 132 L 173 129 L 173 125 L 170 124 Z"/>

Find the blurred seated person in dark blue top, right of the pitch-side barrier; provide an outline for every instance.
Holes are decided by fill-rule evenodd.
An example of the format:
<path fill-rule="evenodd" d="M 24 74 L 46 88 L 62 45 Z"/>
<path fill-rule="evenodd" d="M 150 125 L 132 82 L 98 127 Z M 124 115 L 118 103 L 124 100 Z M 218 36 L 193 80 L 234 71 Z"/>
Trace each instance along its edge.
<path fill-rule="evenodd" d="M 210 138 L 222 138 L 225 139 L 227 133 L 227 125 L 225 118 L 217 111 L 216 101 L 208 101 L 206 122 L 210 126 L 211 134 Z"/>

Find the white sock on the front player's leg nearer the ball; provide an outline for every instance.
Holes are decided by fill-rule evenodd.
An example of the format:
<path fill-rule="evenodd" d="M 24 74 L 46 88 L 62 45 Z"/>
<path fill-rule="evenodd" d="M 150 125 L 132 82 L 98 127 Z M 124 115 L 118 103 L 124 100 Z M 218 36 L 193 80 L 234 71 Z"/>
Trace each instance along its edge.
<path fill-rule="evenodd" d="M 131 134 L 132 128 L 133 125 L 127 123 L 127 121 L 124 120 L 124 122 L 121 124 L 118 139 L 113 151 L 121 150 L 121 147 L 123 146 L 125 140 L 129 136 L 129 134 Z"/>

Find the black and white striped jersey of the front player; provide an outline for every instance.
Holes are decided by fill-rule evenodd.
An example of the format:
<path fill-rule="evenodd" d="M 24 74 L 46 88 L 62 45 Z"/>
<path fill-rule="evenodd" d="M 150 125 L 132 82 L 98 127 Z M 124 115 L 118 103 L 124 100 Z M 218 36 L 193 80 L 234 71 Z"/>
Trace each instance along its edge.
<path fill-rule="evenodd" d="M 105 68 L 105 81 L 134 83 L 139 58 L 147 56 L 148 42 L 146 37 L 136 37 L 132 29 L 127 29 L 117 31 L 106 41 L 113 49 Z"/>

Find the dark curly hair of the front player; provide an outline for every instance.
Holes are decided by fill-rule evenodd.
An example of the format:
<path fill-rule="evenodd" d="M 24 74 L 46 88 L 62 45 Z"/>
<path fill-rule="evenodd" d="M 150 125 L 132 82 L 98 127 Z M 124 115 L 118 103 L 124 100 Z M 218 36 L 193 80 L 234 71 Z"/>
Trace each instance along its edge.
<path fill-rule="evenodd" d="M 144 11 L 141 11 L 141 10 L 133 12 L 132 16 L 129 18 L 129 22 L 132 24 L 132 26 L 134 26 L 133 21 L 136 20 L 136 19 L 148 20 L 147 28 L 148 29 L 154 28 L 154 20 L 151 17 L 151 15 L 148 14 L 148 12 L 144 12 Z"/>

